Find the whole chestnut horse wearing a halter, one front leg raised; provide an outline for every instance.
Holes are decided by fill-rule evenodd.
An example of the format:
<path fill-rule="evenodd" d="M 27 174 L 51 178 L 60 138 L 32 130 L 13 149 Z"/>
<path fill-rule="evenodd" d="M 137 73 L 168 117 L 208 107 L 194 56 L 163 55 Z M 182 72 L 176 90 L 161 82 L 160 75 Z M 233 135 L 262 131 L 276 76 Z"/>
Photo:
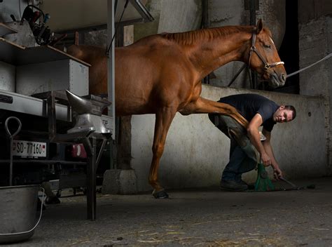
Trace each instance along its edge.
<path fill-rule="evenodd" d="M 68 53 L 90 63 L 90 93 L 107 93 L 104 48 L 71 46 Z M 286 71 L 271 33 L 255 26 L 228 26 L 147 36 L 116 48 L 116 115 L 155 114 L 153 158 L 148 182 L 155 198 L 168 197 L 158 182 L 158 166 L 167 131 L 176 114 L 226 114 L 242 126 L 247 120 L 234 107 L 200 97 L 201 80 L 230 61 L 242 61 L 271 86 L 283 86 Z"/>

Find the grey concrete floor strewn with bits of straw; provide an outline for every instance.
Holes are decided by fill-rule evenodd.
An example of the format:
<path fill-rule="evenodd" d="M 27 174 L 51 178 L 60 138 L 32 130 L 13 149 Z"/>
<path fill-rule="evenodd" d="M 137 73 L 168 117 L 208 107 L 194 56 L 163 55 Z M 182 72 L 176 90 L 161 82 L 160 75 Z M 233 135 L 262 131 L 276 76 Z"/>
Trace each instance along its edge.
<path fill-rule="evenodd" d="M 332 178 L 292 182 L 316 189 L 99 194 L 95 222 L 85 196 L 61 198 L 32 239 L 12 246 L 332 246 Z"/>

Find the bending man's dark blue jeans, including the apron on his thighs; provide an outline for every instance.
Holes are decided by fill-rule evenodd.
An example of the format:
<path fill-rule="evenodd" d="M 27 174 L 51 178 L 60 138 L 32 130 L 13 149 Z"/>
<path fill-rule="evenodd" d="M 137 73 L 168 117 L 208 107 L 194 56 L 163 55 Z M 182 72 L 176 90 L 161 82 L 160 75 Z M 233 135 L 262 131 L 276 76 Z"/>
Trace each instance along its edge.
<path fill-rule="evenodd" d="M 209 119 L 230 138 L 230 161 L 223 170 L 221 180 L 240 182 L 242 173 L 256 168 L 256 149 L 251 144 L 247 131 L 230 116 L 209 114 Z"/>

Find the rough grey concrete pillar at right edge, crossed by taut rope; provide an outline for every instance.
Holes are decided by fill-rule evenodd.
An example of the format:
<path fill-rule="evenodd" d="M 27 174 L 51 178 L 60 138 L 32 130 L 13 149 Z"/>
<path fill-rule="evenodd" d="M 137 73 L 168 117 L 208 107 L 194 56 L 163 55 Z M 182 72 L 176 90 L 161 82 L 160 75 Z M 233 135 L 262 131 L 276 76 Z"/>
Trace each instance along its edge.
<path fill-rule="evenodd" d="M 298 3 L 300 69 L 332 53 L 332 4 L 328 0 L 304 0 Z M 325 100 L 325 124 L 328 128 L 328 173 L 332 175 L 332 58 L 300 73 L 300 94 Z"/>

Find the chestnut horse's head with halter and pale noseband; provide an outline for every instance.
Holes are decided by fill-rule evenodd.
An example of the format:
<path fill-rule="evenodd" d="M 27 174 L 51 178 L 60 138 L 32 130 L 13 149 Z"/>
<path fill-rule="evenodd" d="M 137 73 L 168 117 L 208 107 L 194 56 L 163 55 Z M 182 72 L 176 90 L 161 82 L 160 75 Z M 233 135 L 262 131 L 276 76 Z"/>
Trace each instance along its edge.
<path fill-rule="evenodd" d="M 261 19 L 258 20 L 251 37 L 248 63 L 251 69 L 256 70 L 263 79 L 268 80 L 273 88 L 284 86 L 286 82 L 284 62 L 280 61 L 270 31 L 263 29 Z"/>

